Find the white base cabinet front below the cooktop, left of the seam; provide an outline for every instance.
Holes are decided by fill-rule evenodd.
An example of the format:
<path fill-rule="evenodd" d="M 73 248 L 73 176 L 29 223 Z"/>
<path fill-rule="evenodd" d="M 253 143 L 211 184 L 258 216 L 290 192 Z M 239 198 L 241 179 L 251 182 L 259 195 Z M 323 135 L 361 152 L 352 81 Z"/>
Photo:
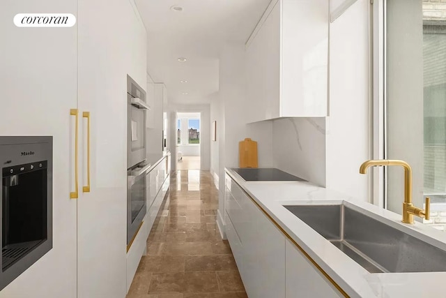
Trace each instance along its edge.
<path fill-rule="evenodd" d="M 285 297 L 285 237 L 231 179 L 226 234 L 249 297 Z"/>

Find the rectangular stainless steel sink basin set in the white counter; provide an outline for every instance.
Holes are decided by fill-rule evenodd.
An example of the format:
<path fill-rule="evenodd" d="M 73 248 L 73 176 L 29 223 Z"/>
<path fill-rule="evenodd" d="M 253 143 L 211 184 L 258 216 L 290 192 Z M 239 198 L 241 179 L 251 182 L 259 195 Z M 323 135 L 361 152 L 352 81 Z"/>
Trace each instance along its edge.
<path fill-rule="evenodd" d="M 371 273 L 446 271 L 446 251 L 344 204 L 284 207 Z"/>

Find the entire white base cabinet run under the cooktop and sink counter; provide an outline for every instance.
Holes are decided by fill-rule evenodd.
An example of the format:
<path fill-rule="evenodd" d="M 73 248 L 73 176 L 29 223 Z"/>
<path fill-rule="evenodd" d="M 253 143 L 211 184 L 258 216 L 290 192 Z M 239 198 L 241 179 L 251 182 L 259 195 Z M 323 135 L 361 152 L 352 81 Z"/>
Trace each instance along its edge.
<path fill-rule="evenodd" d="M 248 297 L 344 297 L 227 176 L 225 198 L 226 235 Z"/>

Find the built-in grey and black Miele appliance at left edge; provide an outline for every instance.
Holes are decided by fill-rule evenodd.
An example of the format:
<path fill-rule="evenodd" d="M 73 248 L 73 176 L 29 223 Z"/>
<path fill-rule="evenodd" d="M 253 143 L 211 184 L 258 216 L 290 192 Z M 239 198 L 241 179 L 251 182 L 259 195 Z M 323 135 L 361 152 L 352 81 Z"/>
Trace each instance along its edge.
<path fill-rule="evenodd" d="M 52 137 L 0 137 L 0 290 L 52 248 Z"/>

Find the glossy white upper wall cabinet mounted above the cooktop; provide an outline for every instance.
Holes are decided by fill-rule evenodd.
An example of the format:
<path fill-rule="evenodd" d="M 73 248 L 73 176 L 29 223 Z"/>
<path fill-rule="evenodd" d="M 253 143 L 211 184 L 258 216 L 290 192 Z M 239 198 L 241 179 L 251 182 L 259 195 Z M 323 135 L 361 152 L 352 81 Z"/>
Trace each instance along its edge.
<path fill-rule="evenodd" d="M 325 117 L 329 0 L 273 0 L 246 43 L 247 123 Z"/>

